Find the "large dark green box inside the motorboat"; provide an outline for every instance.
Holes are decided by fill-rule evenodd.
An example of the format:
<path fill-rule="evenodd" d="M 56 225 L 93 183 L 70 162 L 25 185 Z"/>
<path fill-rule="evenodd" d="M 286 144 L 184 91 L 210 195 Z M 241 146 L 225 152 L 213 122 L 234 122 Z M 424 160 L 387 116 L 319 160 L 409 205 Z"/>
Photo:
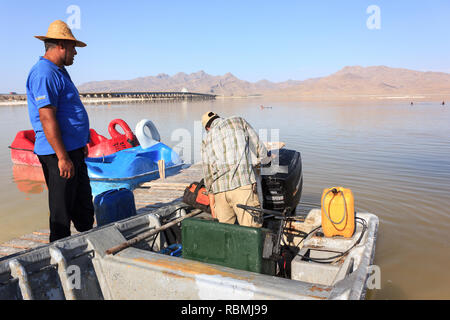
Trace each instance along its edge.
<path fill-rule="evenodd" d="M 275 274 L 275 262 L 262 257 L 266 233 L 251 228 L 189 218 L 182 221 L 183 258 L 239 270 Z"/>

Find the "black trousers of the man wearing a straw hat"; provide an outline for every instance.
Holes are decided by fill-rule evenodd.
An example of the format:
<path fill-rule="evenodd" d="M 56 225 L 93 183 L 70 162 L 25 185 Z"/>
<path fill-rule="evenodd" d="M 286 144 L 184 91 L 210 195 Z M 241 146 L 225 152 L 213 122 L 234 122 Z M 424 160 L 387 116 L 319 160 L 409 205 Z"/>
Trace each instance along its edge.
<path fill-rule="evenodd" d="M 69 151 L 75 175 L 64 179 L 59 174 L 55 154 L 38 156 L 48 187 L 50 209 L 50 242 L 70 236 L 72 221 L 79 232 L 92 228 L 94 205 L 83 148 Z"/>

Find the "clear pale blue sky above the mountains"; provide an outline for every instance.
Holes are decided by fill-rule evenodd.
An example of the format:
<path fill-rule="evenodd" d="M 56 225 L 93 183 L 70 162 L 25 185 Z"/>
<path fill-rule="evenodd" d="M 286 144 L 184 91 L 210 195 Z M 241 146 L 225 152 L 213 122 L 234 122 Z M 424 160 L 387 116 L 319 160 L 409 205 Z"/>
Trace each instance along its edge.
<path fill-rule="evenodd" d="M 204 70 L 258 81 L 303 80 L 347 65 L 450 72 L 448 0 L 1 0 L 0 93 L 25 92 L 45 35 L 70 5 L 86 42 L 75 84 Z M 366 21 L 380 8 L 380 29 Z"/>

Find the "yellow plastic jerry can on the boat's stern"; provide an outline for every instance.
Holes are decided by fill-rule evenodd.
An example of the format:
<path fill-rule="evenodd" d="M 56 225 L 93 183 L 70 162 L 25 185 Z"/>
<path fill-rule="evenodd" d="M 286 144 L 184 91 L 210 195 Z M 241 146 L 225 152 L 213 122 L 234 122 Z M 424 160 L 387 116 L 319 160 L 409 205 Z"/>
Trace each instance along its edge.
<path fill-rule="evenodd" d="M 322 193 L 322 230 L 325 237 L 351 238 L 355 232 L 355 204 L 350 189 L 333 187 Z"/>

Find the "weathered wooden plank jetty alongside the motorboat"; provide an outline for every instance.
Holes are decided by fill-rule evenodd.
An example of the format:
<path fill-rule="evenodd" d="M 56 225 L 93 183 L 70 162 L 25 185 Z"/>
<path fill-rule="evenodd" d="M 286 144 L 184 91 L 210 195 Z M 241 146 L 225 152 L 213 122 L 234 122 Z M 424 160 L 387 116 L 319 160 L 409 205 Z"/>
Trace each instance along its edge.
<path fill-rule="evenodd" d="M 141 184 L 134 193 L 137 214 L 148 213 L 182 199 L 184 189 L 202 179 L 201 163 L 180 170 L 176 175 Z M 95 225 L 94 225 L 95 226 Z M 72 234 L 78 233 L 71 227 Z M 37 248 L 48 243 L 49 229 L 37 230 L 0 244 L 0 258 Z"/>

